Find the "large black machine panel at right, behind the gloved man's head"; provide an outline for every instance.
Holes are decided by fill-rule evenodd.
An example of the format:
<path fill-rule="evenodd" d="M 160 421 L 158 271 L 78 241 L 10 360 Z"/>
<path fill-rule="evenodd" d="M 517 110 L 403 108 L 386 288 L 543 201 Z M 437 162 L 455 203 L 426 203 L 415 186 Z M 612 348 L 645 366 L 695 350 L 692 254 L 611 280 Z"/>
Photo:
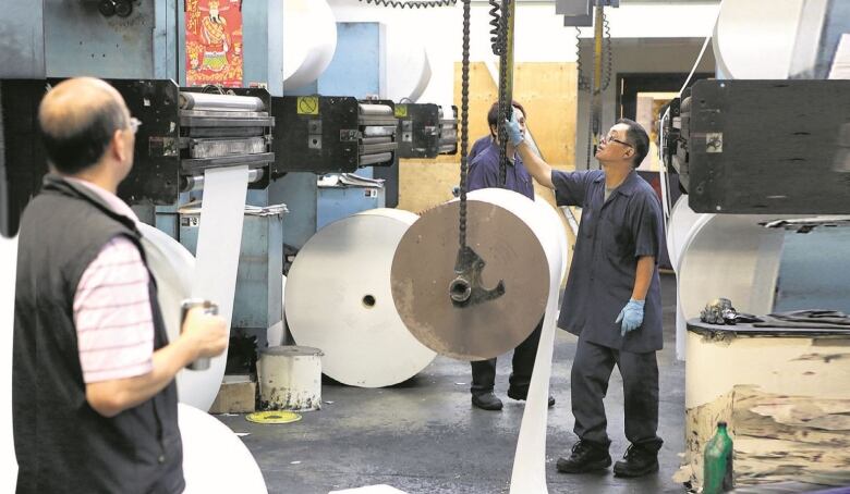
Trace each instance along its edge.
<path fill-rule="evenodd" d="M 700 81 L 670 116 L 665 164 L 694 211 L 848 212 L 850 81 Z"/>

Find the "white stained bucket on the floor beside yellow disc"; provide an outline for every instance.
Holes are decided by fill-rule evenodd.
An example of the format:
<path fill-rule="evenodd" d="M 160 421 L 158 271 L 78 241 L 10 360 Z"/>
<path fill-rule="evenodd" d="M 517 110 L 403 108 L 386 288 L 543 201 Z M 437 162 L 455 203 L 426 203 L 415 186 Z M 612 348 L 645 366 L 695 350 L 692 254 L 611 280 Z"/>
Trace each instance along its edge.
<path fill-rule="evenodd" d="M 321 408 L 321 356 L 308 346 L 277 346 L 259 353 L 257 380 L 264 410 Z"/>

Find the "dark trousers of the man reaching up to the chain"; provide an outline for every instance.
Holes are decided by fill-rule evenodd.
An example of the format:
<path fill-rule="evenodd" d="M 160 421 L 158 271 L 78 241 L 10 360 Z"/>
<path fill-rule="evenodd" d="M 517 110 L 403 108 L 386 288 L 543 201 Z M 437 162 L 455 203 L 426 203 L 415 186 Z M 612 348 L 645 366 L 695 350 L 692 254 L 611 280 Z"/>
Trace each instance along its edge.
<path fill-rule="evenodd" d="M 582 441 L 608 447 L 603 398 L 614 365 L 622 375 L 626 437 L 651 450 L 661 447 L 658 431 L 658 362 L 655 351 L 633 354 L 585 342 L 579 337 L 572 363 L 571 395 L 573 432 Z"/>

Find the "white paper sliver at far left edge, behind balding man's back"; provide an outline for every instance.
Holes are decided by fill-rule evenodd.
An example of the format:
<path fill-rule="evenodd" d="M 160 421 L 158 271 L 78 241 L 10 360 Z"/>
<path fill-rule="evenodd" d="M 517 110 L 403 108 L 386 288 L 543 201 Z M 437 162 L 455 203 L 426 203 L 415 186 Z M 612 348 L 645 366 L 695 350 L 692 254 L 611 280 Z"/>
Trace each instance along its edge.
<path fill-rule="evenodd" d="M 12 345 L 15 316 L 15 272 L 17 271 L 17 237 L 0 235 L 0 492 L 15 492 L 14 428 L 12 425 Z"/>

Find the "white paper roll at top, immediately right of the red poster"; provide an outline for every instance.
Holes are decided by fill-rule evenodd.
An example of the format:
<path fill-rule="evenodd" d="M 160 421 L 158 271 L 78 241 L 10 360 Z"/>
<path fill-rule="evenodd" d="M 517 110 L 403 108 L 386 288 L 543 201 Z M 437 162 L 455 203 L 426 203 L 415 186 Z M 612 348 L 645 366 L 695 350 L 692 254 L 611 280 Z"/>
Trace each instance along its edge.
<path fill-rule="evenodd" d="M 283 87 L 298 89 L 316 81 L 337 50 L 337 20 L 326 0 L 283 2 Z"/>

